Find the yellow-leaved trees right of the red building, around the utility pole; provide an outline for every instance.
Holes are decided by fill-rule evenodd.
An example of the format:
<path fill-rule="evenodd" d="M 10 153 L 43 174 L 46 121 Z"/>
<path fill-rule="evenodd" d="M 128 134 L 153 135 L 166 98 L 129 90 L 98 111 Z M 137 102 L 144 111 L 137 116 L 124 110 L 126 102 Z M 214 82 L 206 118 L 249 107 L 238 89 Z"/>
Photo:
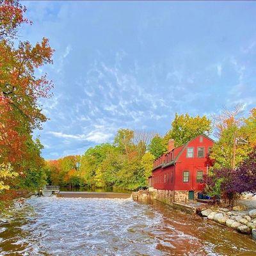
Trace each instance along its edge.
<path fill-rule="evenodd" d="M 213 116 L 214 134 L 219 139 L 212 147 L 211 159 L 214 168 L 236 168 L 255 145 L 255 111 L 248 118 L 243 118 L 243 106 L 234 109 L 223 109 L 220 115 Z M 237 138 L 243 138 L 248 143 L 237 145 Z"/>

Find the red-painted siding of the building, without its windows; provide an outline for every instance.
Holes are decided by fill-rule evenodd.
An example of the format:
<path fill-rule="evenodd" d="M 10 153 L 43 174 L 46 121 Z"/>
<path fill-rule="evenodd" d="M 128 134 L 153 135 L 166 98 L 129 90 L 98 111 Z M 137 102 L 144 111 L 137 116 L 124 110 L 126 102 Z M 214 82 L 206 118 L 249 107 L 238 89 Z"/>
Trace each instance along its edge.
<path fill-rule="evenodd" d="M 202 137 L 202 142 L 200 142 L 200 137 Z M 154 188 L 156 189 L 166 189 L 166 190 L 194 190 L 198 191 L 202 187 L 200 182 L 196 182 L 196 173 L 198 171 L 203 171 L 204 174 L 207 173 L 207 154 L 209 152 L 209 147 L 213 146 L 213 141 L 205 136 L 198 136 L 194 140 L 186 145 L 175 148 L 172 152 L 168 154 L 173 154 L 172 159 L 169 157 L 169 161 L 172 161 L 179 152 L 184 148 L 185 150 L 177 159 L 177 163 L 166 168 L 157 168 L 153 172 L 153 182 Z M 189 147 L 194 148 L 194 156 L 192 158 L 187 157 L 187 149 Z M 204 157 L 200 158 L 197 156 L 198 147 L 204 147 Z M 155 166 L 163 163 L 166 156 L 159 157 L 156 160 Z M 168 162 L 169 162 L 168 161 Z M 183 172 L 189 171 L 189 181 L 183 182 Z M 172 174 L 173 173 L 173 174 Z M 165 175 L 165 180 L 164 180 Z M 173 176 L 172 176 L 173 175 Z M 173 182 L 172 182 L 173 181 Z"/>

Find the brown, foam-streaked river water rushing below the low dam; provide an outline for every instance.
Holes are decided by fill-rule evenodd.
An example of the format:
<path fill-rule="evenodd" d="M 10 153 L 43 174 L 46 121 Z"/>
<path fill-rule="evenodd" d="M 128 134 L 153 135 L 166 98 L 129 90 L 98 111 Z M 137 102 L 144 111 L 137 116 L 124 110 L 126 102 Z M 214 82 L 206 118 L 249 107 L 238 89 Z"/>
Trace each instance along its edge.
<path fill-rule="evenodd" d="M 131 199 L 29 198 L 0 224 L 0 255 L 256 255 L 226 227 Z"/>

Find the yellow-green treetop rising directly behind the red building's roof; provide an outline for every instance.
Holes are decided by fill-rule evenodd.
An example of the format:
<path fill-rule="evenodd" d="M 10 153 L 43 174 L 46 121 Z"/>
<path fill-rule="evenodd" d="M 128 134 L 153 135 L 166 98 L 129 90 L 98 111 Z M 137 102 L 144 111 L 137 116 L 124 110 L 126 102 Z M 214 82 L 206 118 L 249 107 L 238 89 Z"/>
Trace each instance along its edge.
<path fill-rule="evenodd" d="M 172 128 L 164 136 L 164 143 L 167 147 L 168 141 L 173 139 L 175 141 L 175 147 L 186 143 L 187 141 L 195 138 L 200 134 L 209 135 L 211 132 L 211 120 L 206 116 L 189 116 L 188 113 L 185 115 L 178 115 L 175 113 L 175 118 L 172 122 Z"/>

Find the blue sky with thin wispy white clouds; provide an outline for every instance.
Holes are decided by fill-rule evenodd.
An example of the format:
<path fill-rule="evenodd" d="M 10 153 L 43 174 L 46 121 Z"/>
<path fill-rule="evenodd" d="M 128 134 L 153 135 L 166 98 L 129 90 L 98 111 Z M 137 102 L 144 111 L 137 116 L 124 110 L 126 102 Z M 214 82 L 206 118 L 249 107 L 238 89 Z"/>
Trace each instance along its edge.
<path fill-rule="evenodd" d="M 54 83 L 35 131 L 45 159 L 111 143 L 120 128 L 163 135 L 175 113 L 207 115 L 256 105 L 256 2 L 24 1 L 49 38 Z"/>

